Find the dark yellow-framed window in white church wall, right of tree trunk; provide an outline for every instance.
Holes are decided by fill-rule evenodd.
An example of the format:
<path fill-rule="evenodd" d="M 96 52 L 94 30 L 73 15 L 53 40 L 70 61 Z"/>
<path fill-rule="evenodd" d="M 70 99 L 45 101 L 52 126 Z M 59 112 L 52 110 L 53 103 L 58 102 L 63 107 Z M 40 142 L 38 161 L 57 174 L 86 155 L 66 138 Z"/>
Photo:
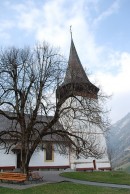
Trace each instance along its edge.
<path fill-rule="evenodd" d="M 47 143 L 46 151 L 45 151 L 45 161 L 53 161 L 53 160 L 54 160 L 53 145 L 51 143 Z"/>

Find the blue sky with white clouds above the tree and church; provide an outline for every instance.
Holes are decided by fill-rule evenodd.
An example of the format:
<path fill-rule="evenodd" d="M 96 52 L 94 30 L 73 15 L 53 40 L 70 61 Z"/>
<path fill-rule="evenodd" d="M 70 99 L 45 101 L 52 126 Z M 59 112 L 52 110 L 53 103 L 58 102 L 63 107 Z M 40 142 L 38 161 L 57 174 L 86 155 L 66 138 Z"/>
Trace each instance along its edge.
<path fill-rule="evenodd" d="M 84 68 L 116 122 L 130 112 L 130 0 L 0 0 L 0 47 L 43 40 L 68 58 L 69 27 Z"/>

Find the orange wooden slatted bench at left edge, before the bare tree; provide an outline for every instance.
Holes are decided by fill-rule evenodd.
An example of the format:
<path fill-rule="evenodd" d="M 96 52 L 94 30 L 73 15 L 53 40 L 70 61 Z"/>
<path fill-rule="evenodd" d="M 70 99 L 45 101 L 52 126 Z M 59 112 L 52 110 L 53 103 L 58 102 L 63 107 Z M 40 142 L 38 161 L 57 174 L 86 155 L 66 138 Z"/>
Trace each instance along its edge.
<path fill-rule="evenodd" d="M 0 180 L 3 181 L 16 181 L 24 182 L 27 179 L 27 175 L 23 173 L 14 172 L 0 172 Z"/>

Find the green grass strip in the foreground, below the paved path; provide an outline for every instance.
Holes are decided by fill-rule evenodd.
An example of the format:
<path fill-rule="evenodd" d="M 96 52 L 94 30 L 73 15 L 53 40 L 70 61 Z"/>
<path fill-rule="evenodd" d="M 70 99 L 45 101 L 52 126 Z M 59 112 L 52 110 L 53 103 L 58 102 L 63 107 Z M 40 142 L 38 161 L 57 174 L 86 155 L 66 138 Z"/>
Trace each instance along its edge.
<path fill-rule="evenodd" d="M 73 183 L 45 184 L 24 190 L 0 187 L 0 194 L 130 194 L 128 189 L 112 189 Z"/>

